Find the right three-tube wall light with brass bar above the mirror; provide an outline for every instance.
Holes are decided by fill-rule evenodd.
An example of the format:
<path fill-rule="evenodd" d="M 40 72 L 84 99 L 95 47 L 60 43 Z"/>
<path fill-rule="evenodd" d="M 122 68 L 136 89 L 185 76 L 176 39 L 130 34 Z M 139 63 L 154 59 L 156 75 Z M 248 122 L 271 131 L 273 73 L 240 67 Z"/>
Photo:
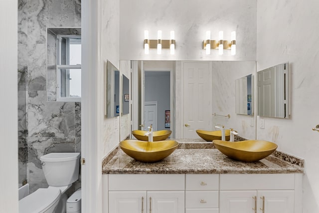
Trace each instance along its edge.
<path fill-rule="evenodd" d="M 230 49 L 231 55 L 236 54 L 236 31 L 231 32 L 231 41 L 224 40 L 224 32 L 218 32 L 218 41 L 210 40 L 210 31 L 206 31 L 206 39 L 203 41 L 203 49 L 206 55 L 210 54 L 210 49 L 218 49 L 218 54 L 222 55 L 224 49 Z"/>

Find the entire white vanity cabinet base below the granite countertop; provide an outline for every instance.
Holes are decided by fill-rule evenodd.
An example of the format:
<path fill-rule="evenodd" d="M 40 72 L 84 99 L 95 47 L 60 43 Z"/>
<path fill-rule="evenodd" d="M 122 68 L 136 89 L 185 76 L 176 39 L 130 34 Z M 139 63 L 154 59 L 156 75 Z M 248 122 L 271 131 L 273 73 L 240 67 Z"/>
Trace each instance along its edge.
<path fill-rule="evenodd" d="M 303 174 L 109 174 L 104 213 L 302 213 Z"/>

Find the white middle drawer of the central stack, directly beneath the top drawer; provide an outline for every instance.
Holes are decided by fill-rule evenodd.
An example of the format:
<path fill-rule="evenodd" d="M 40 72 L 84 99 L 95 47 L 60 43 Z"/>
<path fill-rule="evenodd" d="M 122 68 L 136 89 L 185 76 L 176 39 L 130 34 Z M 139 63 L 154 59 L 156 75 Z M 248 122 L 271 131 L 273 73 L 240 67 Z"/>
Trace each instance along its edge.
<path fill-rule="evenodd" d="M 186 191 L 185 208 L 218 208 L 218 191 Z"/>

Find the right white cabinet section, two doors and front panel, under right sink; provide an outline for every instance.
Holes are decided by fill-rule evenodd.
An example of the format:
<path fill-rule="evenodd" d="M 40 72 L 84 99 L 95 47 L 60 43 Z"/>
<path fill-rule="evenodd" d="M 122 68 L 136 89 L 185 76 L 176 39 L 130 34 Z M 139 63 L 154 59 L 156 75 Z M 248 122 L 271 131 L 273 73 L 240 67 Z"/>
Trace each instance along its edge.
<path fill-rule="evenodd" d="M 301 213 L 300 176 L 220 175 L 219 213 Z"/>

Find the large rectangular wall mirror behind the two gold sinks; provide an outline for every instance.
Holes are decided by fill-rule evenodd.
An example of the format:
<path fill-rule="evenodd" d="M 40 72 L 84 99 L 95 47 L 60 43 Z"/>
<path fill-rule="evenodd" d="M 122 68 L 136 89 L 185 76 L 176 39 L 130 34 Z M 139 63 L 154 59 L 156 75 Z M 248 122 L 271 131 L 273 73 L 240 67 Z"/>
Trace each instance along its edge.
<path fill-rule="evenodd" d="M 160 72 L 167 72 L 166 80 L 160 80 Z M 196 130 L 216 131 L 222 125 L 255 139 L 255 118 L 235 114 L 234 82 L 250 73 L 256 74 L 255 61 L 132 61 L 132 130 L 148 131 L 156 124 L 154 131 L 171 130 L 170 138 L 202 140 Z M 248 93 L 254 90 L 247 89 L 246 110 Z M 160 109 L 164 101 L 166 107 Z M 254 115 L 253 107 L 247 114 Z M 224 116 L 228 114 L 230 118 Z"/>

